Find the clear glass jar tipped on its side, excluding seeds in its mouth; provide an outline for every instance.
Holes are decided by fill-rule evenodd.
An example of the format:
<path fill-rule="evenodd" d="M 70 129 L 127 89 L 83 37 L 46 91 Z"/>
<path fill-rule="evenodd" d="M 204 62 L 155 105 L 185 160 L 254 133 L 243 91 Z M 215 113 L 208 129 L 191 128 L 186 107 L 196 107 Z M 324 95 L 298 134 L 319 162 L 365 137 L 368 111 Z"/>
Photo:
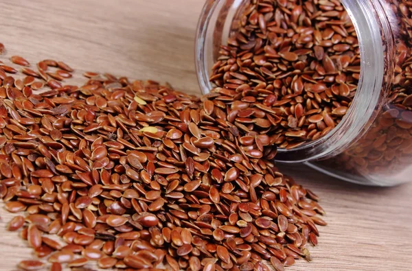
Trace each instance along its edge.
<path fill-rule="evenodd" d="M 236 33 L 251 1 L 259 2 L 206 1 L 196 34 L 196 70 L 204 94 L 214 88 L 209 77 L 220 45 Z M 275 159 L 306 163 L 363 185 L 407 182 L 412 180 L 412 1 L 341 3 L 352 19 L 361 52 L 356 95 L 328 134 L 297 148 L 279 148 Z"/>

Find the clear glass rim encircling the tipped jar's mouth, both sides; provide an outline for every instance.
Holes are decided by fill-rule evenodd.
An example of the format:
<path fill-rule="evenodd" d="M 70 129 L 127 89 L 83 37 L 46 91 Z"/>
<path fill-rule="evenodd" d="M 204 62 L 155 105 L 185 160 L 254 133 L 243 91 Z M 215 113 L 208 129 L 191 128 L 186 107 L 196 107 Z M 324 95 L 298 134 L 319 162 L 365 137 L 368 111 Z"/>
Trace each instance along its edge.
<path fill-rule="evenodd" d="M 198 82 L 204 94 L 209 93 L 213 88 L 209 82 L 209 73 L 216 60 L 213 59 L 216 52 L 212 50 L 216 44 L 225 44 L 225 39 L 229 37 L 228 25 L 230 27 L 232 24 L 236 8 L 242 2 L 244 0 L 207 1 L 203 8 L 198 22 L 195 51 Z M 376 7 L 372 6 L 369 0 L 341 0 L 341 3 L 352 19 L 361 51 L 361 72 L 352 105 L 341 122 L 324 137 L 290 150 L 279 148 L 275 158 L 277 162 L 301 163 L 335 156 L 360 137 L 374 119 L 374 111 L 381 96 L 385 67 L 384 47 L 380 33 L 382 26 L 374 13 Z M 232 10 L 225 14 L 227 17 L 224 20 L 224 27 L 220 30 L 221 33 L 216 33 L 217 17 L 223 5 Z M 390 43 L 390 40 L 387 40 L 387 43 Z"/>

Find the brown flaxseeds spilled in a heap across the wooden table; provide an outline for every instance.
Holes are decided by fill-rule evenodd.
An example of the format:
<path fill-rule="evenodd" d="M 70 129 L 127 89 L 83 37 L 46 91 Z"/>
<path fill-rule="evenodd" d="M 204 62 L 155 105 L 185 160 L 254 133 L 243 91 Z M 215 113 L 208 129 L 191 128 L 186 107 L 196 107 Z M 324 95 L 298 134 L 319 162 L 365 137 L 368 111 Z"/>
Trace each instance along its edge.
<path fill-rule="evenodd" d="M 230 106 L 44 60 L 0 69 L 0 196 L 39 260 L 24 270 L 284 270 L 311 257 L 318 197 L 273 165 L 273 139 Z M 52 67 L 61 71 L 51 72 Z M 53 68 L 54 69 L 54 68 Z M 49 79 L 49 77 L 54 79 Z M 37 91 L 47 82 L 49 90 Z M 34 87 L 36 86 L 36 87 Z M 60 237 L 60 238 L 56 238 Z M 47 260 L 46 260 L 47 259 Z"/>

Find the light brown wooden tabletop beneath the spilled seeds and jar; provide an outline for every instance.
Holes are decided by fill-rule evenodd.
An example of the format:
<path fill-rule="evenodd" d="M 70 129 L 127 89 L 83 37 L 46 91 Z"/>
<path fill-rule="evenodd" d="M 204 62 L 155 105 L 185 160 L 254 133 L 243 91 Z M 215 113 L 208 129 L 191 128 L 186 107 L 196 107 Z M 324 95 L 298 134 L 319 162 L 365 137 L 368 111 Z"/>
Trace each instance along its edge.
<path fill-rule="evenodd" d="M 35 63 L 62 60 L 77 71 L 102 71 L 170 82 L 199 93 L 194 36 L 201 0 L 0 1 L 0 43 L 7 56 Z M 5 58 L 0 60 L 5 61 Z M 412 270 L 412 183 L 393 188 L 352 185 L 304 166 L 288 169 L 322 198 L 328 226 L 320 228 L 313 261 L 287 270 Z M 12 215 L 0 204 L 0 270 L 32 256 Z"/>

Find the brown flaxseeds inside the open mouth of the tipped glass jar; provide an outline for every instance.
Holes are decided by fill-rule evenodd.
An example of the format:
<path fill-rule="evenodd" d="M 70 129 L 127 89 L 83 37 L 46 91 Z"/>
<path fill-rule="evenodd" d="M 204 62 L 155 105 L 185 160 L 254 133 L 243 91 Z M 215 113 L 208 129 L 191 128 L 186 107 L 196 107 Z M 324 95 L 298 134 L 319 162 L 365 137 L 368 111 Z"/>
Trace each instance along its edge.
<path fill-rule="evenodd" d="M 346 114 L 360 73 L 358 39 L 339 0 L 251 0 L 209 78 L 242 130 L 295 148 Z M 233 103 L 233 101 L 236 101 Z M 253 107 L 252 107 L 253 106 Z"/>

